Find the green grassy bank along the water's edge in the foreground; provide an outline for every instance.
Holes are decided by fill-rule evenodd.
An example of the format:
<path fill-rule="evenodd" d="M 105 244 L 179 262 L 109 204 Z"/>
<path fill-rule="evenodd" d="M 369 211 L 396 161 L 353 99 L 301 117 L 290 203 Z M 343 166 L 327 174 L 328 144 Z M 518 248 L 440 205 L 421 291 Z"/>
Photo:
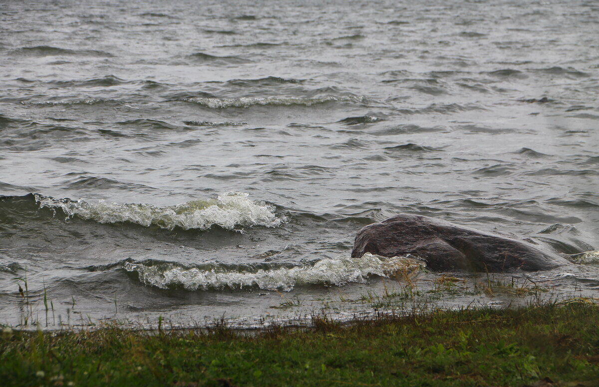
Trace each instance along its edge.
<path fill-rule="evenodd" d="M 3 386 L 597 386 L 599 307 L 380 316 L 258 333 L 4 328 Z M 549 378 L 553 384 L 539 382 Z M 545 383 L 545 384 L 538 384 Z M 577 384 L 578 383 L 578 384 Z"/>

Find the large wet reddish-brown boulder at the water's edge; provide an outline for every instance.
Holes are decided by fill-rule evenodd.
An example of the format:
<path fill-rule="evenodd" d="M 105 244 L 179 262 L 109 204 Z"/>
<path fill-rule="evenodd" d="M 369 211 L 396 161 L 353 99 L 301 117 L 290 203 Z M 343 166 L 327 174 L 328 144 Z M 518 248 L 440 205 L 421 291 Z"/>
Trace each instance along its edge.
<path fill-rule="evenodd" d="M 362 257 L 365 252 L 383 257 L 412 254 L 425 260 L 431 270 L 549 270 L 568 263 L 533 240 L 526 242 L 410 214 L 396 215 L 358 231 L 352 257 Z"/>

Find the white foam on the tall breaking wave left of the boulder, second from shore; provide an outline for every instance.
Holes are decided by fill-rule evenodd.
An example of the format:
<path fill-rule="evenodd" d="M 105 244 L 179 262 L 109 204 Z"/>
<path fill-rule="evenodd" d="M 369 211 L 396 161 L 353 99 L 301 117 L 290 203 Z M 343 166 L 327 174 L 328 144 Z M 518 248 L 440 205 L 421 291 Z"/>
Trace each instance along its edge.
<path fill-rule="evenodd" d="M 60 208 L 67 217 L 76 215 L 99 223 L 131 222 L 146 227 L 156 225 L 168 230 L 174 227 L 207 230 L 214 225 L 229 230 L 243 226 L 277 227 L 286 221 L 285 217 L 277 217 L 273 206 L 249 200 L 248 196 L 240 192 L 226 193 L 217 199 L 193 200 L 164 207 L 143 203 L 87 203 L 41 195 L 35 195 L 35 200 L 40 203 L 40 208 Z"/>

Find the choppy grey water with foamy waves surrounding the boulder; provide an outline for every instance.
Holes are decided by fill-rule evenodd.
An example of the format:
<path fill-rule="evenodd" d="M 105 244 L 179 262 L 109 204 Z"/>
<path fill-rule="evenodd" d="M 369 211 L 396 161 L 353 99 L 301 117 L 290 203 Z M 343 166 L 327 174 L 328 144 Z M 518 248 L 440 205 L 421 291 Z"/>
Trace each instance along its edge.
<path fill-rule="evenodd" d="M 398 212 L 599 248 L 594 1 L 0 4 L 2 323 L 370 313 L 441 276 L 349 257 Z"/>

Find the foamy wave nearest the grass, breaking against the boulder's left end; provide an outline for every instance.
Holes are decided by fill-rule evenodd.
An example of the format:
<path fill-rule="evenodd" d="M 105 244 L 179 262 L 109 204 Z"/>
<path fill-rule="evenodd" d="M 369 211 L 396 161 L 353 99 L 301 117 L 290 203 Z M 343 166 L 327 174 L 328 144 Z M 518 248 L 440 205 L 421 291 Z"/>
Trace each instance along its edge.
<path fill-rule="evenodd" d="M 263 263 L 259 266 L 211 264 L 186 267 L 170 262 L 128 261 L 123 269 L 135 272 L 143 284 L 161 289 L 182 287 L 198 289 L 243 289 L 258 287 L 264 290 L 292 290 L 297 285 L 343 286 L 350 282 L 364 283 L 369 276 L 389 277 L 398 272 L 413 272 L 423 267 L 413 258 L 383 258 L 365 254 L 362 258 L 324 258 L 312 263 L 283 266 Z"/>

